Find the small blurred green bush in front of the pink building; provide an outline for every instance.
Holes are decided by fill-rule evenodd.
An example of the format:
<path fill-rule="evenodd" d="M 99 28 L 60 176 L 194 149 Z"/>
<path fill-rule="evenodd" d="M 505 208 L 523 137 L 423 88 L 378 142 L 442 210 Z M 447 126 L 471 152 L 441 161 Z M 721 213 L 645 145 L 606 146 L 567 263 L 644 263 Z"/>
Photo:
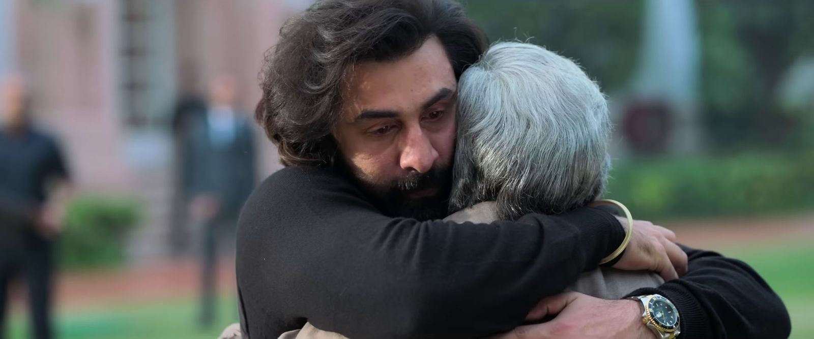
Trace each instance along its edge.
<path fill-rule="evenodd" d="M 75 199 L 65 216 L 60 262 L 70 268 L 123 263 L 126 238 L 141 217 L 142 208 L 132 199 L 103 196 Z"/>

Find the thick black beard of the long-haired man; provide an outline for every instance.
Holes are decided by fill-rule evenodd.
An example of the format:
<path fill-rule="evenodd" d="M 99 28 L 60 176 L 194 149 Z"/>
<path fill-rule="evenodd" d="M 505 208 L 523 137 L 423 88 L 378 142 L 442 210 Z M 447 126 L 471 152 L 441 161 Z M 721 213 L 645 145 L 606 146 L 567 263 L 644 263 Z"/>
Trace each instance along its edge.
<path fill-rule="evenodd" d="M 347 166 L 370 202 L 386 215 L 418 220 L 443 219 L 449 213 L 452 173 L 449 166 L 411 172 L 392 180 L 376 180 L 355 166 Z M 431 194 L 416 197 L 416 193 Z"/>

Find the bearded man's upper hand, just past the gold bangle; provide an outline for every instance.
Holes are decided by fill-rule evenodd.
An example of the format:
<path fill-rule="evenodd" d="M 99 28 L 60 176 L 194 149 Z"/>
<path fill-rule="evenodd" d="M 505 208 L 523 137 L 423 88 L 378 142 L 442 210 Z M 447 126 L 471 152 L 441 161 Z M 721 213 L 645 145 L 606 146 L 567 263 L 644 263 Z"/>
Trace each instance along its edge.
<path fill-rule="evenodd" d="M 628 219 L 619 219 L 627 227 Z M 626 271 L 658 272 L 664 280 L 677 279 L 687 272 L 687 254 L 676 245 L 676 233 L 650 221 L 634 220 L 633 234 L 614 268 Z"/>

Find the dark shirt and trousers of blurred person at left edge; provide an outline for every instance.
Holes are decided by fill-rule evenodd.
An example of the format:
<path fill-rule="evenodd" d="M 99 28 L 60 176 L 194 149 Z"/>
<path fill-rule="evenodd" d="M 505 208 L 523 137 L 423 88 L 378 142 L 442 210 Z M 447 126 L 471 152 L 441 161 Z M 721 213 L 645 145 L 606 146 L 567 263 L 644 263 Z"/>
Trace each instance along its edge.
<path fill-rule="evenodd" d="M 28 280 L 34 337 L 51 337 L 50 291 L 53 241 L 42 237 L 34 218 L 46 202 L 49 180 L 68 179 L 56 141 L 33 129 L 11 135 L 0 129 L 0 337 L 5 333 L 9 282 Z"/>

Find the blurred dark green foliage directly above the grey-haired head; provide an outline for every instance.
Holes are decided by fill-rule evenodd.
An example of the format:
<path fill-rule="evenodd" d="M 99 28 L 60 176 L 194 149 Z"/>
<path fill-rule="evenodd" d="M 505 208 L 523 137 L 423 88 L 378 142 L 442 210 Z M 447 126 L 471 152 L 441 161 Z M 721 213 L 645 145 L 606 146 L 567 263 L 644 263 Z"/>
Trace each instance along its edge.
<path fill-rule="evenodd" d="M 464 4 L 490 41 L 528 40 L 575 59 L 607 92 L 626 85 L 636 66 L 642 0 L 468 0 Z"/>

